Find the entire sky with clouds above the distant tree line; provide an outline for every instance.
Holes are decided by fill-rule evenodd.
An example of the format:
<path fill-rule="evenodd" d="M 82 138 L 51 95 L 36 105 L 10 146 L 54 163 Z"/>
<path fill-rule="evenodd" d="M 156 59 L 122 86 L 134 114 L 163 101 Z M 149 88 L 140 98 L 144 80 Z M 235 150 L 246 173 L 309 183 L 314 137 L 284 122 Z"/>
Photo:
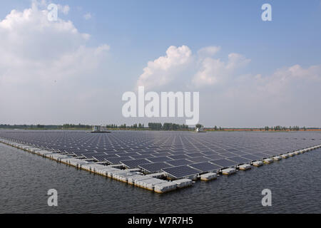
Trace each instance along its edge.
<path fill-rule="evenodd" d="M 0 123 L 185 123 L 123 118 L 145 86 L 198 91 L 208 127 L 321 127 L 320 0 L 1 1 L 0 53 Z"/>

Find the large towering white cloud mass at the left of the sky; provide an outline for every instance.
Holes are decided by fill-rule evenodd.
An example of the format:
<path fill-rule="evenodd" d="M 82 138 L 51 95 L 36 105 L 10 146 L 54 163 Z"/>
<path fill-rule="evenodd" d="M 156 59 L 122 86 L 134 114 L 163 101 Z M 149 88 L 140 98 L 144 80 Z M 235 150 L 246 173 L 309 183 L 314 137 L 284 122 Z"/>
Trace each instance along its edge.
<path fill-rule="evenodd" d="M 67 14 L 69 8 L 61 11 Z M 0 119 L 5 122 L 15 123 L 12 118 L 20 116 L 17 121 L 38 117 L 48 123 L 56 120 L 55 110 L 68 110 L 60 118 L 67 120 L 80 107 L 76 100 L 102 97 L 99 88 L 93 93 L 88 83 L 106 68 L 110 47 L 88 46 L 89 34 L 59 16 L 49 21 L 48 13 L 44 1 L 34 1 L 31 8 L 14 9 L 0 19 L 0 103 L 6 110 Z M 28 113 L 19 115 L 21 108 Z"/>

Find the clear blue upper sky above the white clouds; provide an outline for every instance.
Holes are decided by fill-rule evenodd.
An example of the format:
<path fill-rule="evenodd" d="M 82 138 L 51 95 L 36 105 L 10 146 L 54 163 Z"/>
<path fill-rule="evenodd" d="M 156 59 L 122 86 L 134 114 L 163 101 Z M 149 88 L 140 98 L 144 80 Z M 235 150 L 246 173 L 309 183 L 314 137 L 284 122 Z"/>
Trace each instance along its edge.
<path fill-rule="evenodd" d="M 2 1 L 3 19 L 30 0 Z M 321 61 L 321 1 L 51 1 L 71 7 L 63 19 L 90 33 L 91 45 L 108 43 L 114 56 L 141 70 L 168 46 L 221 46 L 255 61 L 253 71 Z M 272 20 L 260 18 L 270 3 Z M 92 18 L 83 19 L 90 13 Z M 135 61 L 133 61 L 133 58 Z M 269 71 L 270 70 L 270 71 Z M 137 72 L 140 73 L 140 72 Z"/>

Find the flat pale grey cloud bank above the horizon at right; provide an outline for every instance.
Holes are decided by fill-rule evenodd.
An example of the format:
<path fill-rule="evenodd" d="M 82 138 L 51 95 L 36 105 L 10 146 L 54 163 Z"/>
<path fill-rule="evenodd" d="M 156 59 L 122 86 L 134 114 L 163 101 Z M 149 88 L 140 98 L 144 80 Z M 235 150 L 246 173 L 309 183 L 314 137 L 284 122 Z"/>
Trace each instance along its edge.
<path fill-rule="evenodd" d="M 212 99 L 208 98 L 219 107 L 215 109 L 218 123 L 230 127 L 321 125 L 321 65 L 288 66 L 270 75 L 247 74 L 233 81 L 220 91 L 212 90 Z"/>

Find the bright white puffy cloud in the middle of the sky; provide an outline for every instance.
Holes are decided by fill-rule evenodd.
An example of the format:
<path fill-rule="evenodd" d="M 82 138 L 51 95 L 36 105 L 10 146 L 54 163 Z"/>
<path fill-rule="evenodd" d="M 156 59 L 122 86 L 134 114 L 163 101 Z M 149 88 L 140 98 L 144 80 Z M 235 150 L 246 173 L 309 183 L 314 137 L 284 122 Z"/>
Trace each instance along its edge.
<path fill-rule="evenodd" d="M 239 53 L 230 53 L 226 62 L 213 58 L 218 51 L 219 46 L 208 46 L 193 55 L 188 46 L 170 46 L 166 56 L 148 62 L 136 86 L 161 88 L 173 83 L 175 78 L 187 81 L 186 84 L 192 87 L 212 86 L 250 62 L 250 59 Z"/>

